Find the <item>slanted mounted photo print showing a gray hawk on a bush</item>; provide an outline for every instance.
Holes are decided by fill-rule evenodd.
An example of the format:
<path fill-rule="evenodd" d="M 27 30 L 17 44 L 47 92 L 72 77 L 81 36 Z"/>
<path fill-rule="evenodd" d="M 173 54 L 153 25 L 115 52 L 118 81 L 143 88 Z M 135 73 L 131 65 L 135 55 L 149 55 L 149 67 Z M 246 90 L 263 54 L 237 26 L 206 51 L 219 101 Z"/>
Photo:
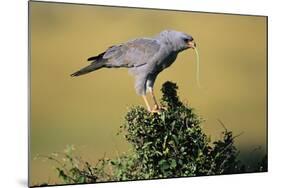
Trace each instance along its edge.
<path fill-rule="evenodd" d="M 267 172 L 267 17 L 29 1 L 29 186 Z"/>

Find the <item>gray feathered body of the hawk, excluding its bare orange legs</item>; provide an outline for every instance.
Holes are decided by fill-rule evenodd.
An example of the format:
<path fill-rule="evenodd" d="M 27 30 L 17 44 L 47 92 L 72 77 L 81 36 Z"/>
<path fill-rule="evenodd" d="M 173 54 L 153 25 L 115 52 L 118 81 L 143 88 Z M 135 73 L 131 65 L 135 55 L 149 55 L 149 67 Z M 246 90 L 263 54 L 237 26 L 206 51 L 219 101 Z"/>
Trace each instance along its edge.
<path fill-rule="evenodd" d="M 152 90 L 157 75 L 175 61 L 178 53 L 191 47 L 191 41 L 193 38 L 188 34 L 165 30 L 153 38 L 139 38 L 111 46 L 98 56 L 90 57 L 88 61 L 92 63 L 71 76 L 100 68 L 128 68 L 135 77 L 137 94 L 145 95 Z"/>

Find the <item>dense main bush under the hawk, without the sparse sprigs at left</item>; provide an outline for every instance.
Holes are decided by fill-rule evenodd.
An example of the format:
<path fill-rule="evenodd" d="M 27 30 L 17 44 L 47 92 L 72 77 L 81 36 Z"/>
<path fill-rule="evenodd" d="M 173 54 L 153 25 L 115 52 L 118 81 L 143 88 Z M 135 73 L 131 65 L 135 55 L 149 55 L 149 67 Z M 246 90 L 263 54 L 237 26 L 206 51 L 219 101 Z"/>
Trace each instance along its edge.
<path fill-rule="evenodd" d="M 133 107 L 122 126 L 134 159 L 122 161 L 118 180 L 214 175 L 241 172 L 232 132 L 210 144 L 202 120 L 177 96 L 176 84 L 163 84 L 160 114 Z M 126 164 L 126 165 L 124 165 Z M 132 172 L 134 172 L 132 174 Z"/>

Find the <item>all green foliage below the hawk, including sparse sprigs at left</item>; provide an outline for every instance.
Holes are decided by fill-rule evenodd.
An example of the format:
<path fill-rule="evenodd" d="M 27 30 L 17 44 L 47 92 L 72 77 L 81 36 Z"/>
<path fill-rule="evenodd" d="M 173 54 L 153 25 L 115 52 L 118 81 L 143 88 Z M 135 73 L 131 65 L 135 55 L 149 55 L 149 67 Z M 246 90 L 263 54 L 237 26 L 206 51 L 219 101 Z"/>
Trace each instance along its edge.
<path fill-rule="evenodd" d="M 163 84 L 164 109 L 159 114 L 140 106 L 129 109 L 121 126 L 132 145 L 126 154 L 90 165 L 68 149 L 62 154 L 64 162 L 58 156 L 49 158 L 58 162 L 59 177 L 65 183 L 93 183 L 246 172 L 232 132 L 223 126 L 222 139 L 211 143 L 202 130 L 202 119 L 179 100 L 177 89 L 174 83 Z M 257 171 L 267 171 L 267 158 Z"/>

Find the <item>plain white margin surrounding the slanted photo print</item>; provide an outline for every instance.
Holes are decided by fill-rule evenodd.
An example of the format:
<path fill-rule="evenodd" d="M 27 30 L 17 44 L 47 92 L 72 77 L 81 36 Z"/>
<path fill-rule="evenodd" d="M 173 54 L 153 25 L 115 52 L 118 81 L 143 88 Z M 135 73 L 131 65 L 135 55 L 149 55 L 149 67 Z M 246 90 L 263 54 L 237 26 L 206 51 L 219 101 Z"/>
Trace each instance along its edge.
<path fill-rule="evenodd" d="M 280 6 L 275 0 L 66 0 L 67 2 L 269 16 L 269 173 L 75 187 L 270 187 L 280 185 Z M 57 2 L 64 2 L 58 0 Z M 278 8 L 279 7 L 279 8 Z M 1 3 L 0 187 L 27 186 L 27 1 Z M 257 41 L 257 45 L 258 41 Z M 66 186 L 68 187 L 68 186 Z M 276 186 L 274 186 L 276 187 Z"/>

